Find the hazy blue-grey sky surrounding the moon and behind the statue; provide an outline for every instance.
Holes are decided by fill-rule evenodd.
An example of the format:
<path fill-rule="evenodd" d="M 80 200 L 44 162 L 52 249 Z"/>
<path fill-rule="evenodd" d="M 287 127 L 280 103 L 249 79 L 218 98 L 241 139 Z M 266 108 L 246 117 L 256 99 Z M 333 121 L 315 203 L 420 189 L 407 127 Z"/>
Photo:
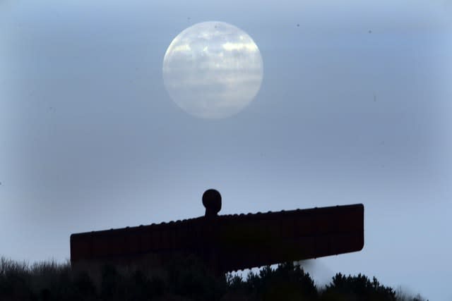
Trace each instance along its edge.
<path fill-rule="evenodd" d="M 452 300 L 452 1 L 0 2 L 0 255 L 204 214 L 364 204 L 364 249 L 314 281 L 376 276 Z M 164 1 L 157 1 L 164 2 Z M 218 20 L 261 51 L 249 106 L 196 118 L 162 80 L 179 32 Z"/>

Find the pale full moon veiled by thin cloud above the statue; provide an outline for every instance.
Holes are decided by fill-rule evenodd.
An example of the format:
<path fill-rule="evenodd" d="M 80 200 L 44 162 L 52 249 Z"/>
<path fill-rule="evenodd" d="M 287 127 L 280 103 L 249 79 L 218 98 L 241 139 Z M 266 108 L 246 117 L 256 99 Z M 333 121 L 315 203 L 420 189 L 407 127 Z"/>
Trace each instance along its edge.
<path fill-rule="evenodd" d="M 203 22 L 175 37 L 163 59 L 174 102 L 198 118 L 226 118 L 250 104 L 261 87 L 261 52 L 249 35 L 223 22 Z"/>

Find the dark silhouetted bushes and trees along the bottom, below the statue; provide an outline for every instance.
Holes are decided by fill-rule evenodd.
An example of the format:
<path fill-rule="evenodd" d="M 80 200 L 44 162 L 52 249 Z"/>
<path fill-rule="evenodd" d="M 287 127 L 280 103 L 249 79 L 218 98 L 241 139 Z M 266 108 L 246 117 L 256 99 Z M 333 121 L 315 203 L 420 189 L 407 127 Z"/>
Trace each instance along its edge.
<path fill-rule="evenodd" d="M 74 271 L 71 265 L 42 262 L 28 265 L 0 259 L 0 300 L 316 300 L 425 301 L 406 297 L 376 278 L 336 274 L 317 287 L 311 276 L 292 263 L 266 266 L 246 278 L 211 274 L 194 258 L 174 260 L 163 269 L 112 265 Z"/>

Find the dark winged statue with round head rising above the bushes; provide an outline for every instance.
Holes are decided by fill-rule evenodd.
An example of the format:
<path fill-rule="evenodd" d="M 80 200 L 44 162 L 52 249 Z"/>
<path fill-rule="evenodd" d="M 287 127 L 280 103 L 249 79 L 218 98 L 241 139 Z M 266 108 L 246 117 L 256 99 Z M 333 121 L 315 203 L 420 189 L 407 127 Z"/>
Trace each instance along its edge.
<path fill-rule="evenodd" d="M 161 262 L 195 255 L 222 274 L 362 250 L 362 204 L 257 214 L 218 215 L 221 195 L 203 194 L 204 216 L 183 221 L 71 235 L 71 263 Z"/>

